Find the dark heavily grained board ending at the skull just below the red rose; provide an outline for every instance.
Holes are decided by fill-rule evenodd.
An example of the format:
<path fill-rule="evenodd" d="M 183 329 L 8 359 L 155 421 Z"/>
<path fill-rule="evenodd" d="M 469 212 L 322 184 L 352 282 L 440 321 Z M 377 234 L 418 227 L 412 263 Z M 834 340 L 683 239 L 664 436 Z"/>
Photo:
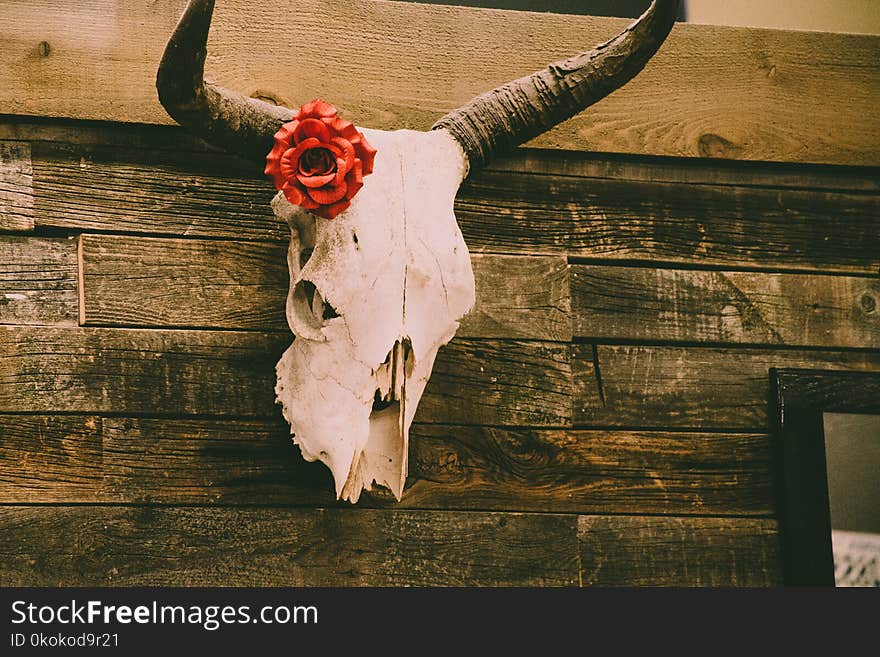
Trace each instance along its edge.
<path fill-rule="evenodd" d="M 275 189 L 225 155 L 34 144 L 38 227 L 286 241 Z"/>

